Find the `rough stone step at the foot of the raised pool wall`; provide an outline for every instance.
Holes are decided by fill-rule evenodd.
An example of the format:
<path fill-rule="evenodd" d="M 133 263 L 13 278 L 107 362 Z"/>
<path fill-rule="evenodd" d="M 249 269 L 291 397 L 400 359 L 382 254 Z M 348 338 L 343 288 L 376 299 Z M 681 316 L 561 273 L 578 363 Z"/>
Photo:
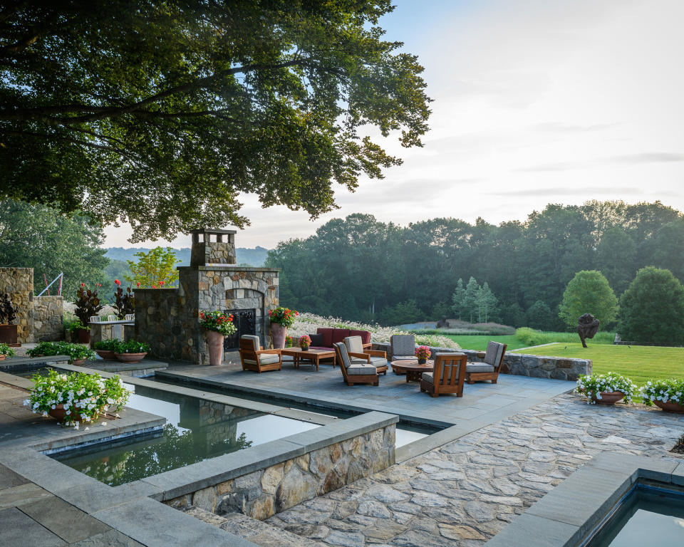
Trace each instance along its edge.
<path fill-rule="evenodd" d="M 220 516 L 195 506 L 185 509 L 185 513 L 261 547 L 329 547 L 241 513 Z"/>

